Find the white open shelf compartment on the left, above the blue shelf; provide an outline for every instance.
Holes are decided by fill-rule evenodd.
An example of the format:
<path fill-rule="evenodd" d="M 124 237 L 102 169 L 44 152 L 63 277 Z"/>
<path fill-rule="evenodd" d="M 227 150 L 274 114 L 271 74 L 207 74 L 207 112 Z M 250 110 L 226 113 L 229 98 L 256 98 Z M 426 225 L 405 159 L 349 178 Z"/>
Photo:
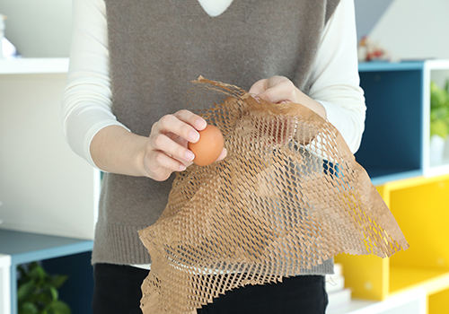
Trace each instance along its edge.
<path fill-rule="evenodd" d="M 68 58 L 0 60 L 0 228 L 92 240 L 100 171 L 66 144 Z"/>

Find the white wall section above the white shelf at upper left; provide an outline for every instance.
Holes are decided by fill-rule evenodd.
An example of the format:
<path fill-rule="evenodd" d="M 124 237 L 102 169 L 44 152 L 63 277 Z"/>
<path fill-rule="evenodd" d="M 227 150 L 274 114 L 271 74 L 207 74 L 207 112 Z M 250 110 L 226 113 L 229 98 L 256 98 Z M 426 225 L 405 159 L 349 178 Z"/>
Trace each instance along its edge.
<path fill-rule="evenodd" d="M 0 13 L 22 57 L 68 57 L 72 0 L 1 0 Z"/>

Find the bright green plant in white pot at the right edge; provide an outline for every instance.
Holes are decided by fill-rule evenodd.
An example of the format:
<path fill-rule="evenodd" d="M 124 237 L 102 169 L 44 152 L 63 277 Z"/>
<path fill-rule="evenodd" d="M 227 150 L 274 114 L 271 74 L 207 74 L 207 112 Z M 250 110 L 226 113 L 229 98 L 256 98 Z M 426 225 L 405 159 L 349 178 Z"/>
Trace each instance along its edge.
<path fill-rule="evenodd" d="M 440 163 L 444 158 L 449 135 L 449 80 L 442 89 L 430 83 L 430 161 Z"/>

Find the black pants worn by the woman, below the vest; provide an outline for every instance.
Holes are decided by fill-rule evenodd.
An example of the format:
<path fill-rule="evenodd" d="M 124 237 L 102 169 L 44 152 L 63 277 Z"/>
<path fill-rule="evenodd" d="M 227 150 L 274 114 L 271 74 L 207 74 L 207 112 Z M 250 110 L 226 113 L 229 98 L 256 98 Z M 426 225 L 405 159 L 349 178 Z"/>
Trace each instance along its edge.
<path fill-rule="evenodd" d="M 132 266 L 96 264 L 93 314 L 141 314 L 141 284 L 148 271 Z M 198 314 L 324 314 L 328 303 L 321 275 L 284 278 L 282 283 L 247 285 L 226 292 Z"/>

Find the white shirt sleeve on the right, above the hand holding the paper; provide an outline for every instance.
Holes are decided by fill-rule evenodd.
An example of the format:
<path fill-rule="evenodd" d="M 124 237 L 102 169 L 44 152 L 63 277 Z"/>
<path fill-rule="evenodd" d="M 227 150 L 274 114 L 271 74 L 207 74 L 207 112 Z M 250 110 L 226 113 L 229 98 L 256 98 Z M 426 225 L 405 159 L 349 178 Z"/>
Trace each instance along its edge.
<path fill-rule="evenodd" d="M 321 38 L 309 96 L 356 153 L 365 129 L 365 96 L 360 87 L 354 0 L 341 0 Z"/>

